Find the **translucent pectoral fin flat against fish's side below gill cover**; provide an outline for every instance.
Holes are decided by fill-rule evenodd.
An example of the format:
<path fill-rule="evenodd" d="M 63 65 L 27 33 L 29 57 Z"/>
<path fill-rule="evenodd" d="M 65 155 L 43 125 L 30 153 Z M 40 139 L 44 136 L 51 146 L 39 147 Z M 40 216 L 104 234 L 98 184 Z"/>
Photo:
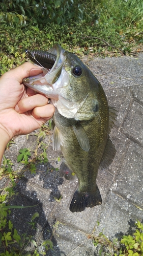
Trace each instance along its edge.
<path fill-rule="evenodd" d="M 77 123 L 77 125 L 73 126 L 73 131 L 82 150 L 88 152 L 90 150 L 89 138 L 85 133 L 85 130 L 82 127 L 82 125 L 80 123 Z"/>

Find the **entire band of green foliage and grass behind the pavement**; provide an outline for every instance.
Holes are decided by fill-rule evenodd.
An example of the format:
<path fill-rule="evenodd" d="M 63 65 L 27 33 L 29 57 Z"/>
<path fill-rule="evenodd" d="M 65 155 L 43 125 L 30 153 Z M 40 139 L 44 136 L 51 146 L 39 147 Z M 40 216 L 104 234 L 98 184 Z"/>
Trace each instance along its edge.
<path fill-rule="evenodd" d="M 142 28 L 142 0 L 2 0 L 0 75 L 26 60 L 26 48 L 57 42 L 79 55 L 135 54 Z"/>

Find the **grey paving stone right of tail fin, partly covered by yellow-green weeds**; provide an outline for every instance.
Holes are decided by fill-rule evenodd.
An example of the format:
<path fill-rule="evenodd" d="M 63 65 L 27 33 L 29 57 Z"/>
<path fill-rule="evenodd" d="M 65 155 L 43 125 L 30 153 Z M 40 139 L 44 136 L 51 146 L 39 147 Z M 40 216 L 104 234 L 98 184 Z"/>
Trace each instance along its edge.
<path fill-rule="evenodd" d="M 133 233 L 136 220 L 142 221 L 142 210 L 120 195 L 109 191 L 99 219 L 99 226 L 95 225 L 95 235 L 103 232 L 110 239 L 120 240 L 123 235 Z"/>

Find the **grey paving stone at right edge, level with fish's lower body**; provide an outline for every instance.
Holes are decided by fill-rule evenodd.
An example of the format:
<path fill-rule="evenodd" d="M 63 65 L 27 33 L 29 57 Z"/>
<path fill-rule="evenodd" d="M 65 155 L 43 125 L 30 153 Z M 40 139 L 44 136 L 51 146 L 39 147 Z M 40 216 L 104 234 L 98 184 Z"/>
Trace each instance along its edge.
<path fill-rule="evenodd" d="M 114 184 L 116 185 L 111 186 L 111 189 L 143 210 L 142 156 L 142 148 L 130 141 L 120 172 L 115 175 Z"/>

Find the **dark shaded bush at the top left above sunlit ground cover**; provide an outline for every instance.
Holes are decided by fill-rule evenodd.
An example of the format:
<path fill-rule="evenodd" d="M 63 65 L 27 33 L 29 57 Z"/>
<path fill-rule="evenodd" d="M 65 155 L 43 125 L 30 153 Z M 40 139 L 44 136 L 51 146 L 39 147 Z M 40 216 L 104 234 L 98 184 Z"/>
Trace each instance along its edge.
<path fill-rule="evenodd" d="M 64 24 L 67 19 L 80 20 L 83 18 L 83 7 L 77 0 L 22 1 L 3 0 L 0 3 L 0 20 L 9 25 L 26 26 L 39 24 L 42 27 L 46 22 Z"/>

